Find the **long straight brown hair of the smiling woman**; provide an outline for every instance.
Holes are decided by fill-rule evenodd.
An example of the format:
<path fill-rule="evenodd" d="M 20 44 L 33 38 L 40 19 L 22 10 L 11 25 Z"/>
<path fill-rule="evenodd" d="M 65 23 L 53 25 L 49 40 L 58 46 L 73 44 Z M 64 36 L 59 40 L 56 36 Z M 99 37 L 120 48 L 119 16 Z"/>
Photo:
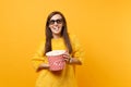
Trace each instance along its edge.
<path fill-rule="evenodd" d="M 62 26 L 62 30 L 61 30 L 61 36 L 63 37 L 63 40 L 64 40 L 66 47 L 69 50 L 69 53 L 71 53 L 72 52 L 72 46 L 71 46 L 71 41 L 70 41 L 70 38 L 69 38 L 69 35 L 68 35 L 68 29 L 67 29 L 68 27 L 67 27 L 66 17 L 63 16 L 63 14 L 61 12 L 53 11 L 47 17 L 46 32 L 45 32 L 46 33 L 46 42 L 45 42 L 45 52 L 44 52 L 44 54 L 46 54 L 46 52 L 52 50 L 51 49 L 52 33 L 51 33 L 51 30 L 49 28 L 49 21 L 56 14 L 59 14 L 62 17 L 63 26 Z"/>

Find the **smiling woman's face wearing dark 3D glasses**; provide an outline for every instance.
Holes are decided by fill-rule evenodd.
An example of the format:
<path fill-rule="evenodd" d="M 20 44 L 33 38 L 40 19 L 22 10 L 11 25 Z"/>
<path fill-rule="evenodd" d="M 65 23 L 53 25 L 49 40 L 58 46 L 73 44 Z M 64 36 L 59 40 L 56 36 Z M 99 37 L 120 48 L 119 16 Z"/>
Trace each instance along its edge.
<path fill-rule="evenodd" d="M 62 26 L 63 26 L 63 22 L 62 22 L 62 16 L 60 14 L 56 14 L 50 18 L 49 28 L 51 29 L 52 35 L 60 36 Z"/>

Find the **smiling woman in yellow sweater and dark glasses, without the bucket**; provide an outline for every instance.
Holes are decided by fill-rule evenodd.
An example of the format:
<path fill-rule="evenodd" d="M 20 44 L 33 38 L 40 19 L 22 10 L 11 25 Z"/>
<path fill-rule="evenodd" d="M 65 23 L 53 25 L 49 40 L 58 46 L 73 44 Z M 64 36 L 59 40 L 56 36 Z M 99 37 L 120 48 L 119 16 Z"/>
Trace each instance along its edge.
<path fill-rule="evenodd" d="M 60 72 L 49 70 L 46 53 L 51 50 L 67 50 L 63 54 L 66 67 Z M 78 87 L 74 69 L 82 64 L 82 49 L 74 35 L 69 35 L 67 22 L 61 12 L 55 11 L 47 17 L 46 39 L 41 42 L 32 62 L 39 73 L 36 87 Z"/>

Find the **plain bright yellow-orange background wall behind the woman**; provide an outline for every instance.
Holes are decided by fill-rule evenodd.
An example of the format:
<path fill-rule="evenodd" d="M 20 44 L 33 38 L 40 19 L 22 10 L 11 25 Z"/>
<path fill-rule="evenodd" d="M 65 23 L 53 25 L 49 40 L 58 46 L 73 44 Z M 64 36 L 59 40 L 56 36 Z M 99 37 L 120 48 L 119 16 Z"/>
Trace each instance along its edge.
<path fill-rule="evenodd" d="M 80 87 L 131 87 L 130 0 L 2 0 L 0 10 L 0 87 L 35 86 L 31 58 L 55 10 L 86 51 Z"/>

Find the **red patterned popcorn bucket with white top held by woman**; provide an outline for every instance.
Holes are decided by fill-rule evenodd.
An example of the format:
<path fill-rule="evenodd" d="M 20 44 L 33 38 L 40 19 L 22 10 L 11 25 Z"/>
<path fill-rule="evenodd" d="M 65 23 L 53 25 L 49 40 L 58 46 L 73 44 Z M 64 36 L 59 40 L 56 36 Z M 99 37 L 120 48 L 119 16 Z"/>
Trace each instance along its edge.
<path fill-rule="evenodd" d="M 61 71 L 66 65 L 66 61 L 62 54 L 66 50 L 52 50 L 46 53 L 49 62 L 49 70 L 50 71 Z"/>

